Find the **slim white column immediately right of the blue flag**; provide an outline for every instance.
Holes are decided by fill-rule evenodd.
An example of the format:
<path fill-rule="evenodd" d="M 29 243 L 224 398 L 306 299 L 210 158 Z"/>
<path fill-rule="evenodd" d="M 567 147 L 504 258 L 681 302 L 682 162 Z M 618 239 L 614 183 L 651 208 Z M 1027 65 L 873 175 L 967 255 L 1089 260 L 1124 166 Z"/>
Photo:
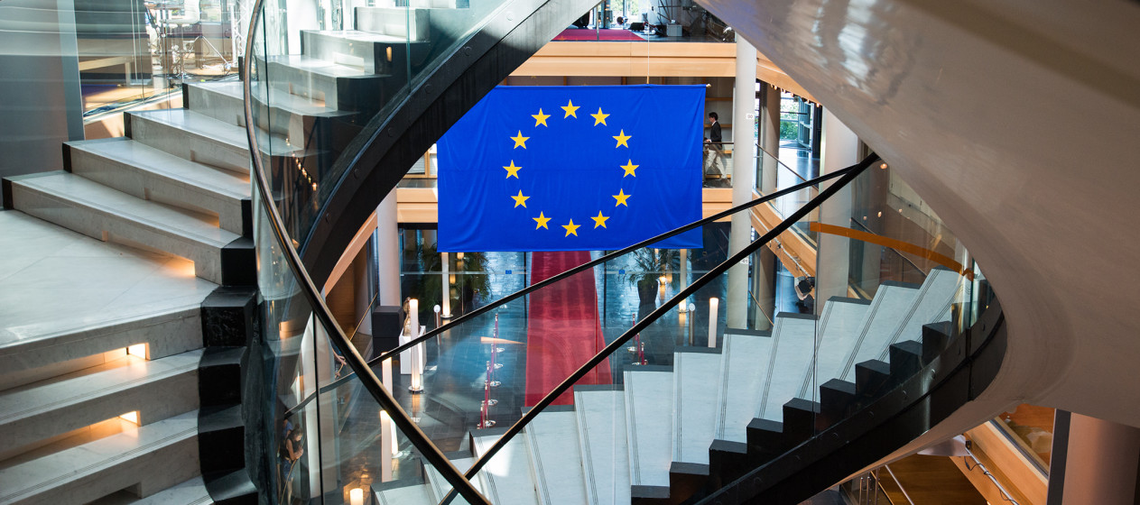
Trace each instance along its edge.
<path fill-rule="evenodd" d="M 756 48 L 736 39 L 736 82 L 732 100 L 732 205 L 743 205 L 752 199 L 756 186 Z M 752 238 L 749 212 L 732 217 L 728 254 L 743 250 Z M 728 269 L 727 325 L 743 328 L 748 325 L 748 261 Z"/>

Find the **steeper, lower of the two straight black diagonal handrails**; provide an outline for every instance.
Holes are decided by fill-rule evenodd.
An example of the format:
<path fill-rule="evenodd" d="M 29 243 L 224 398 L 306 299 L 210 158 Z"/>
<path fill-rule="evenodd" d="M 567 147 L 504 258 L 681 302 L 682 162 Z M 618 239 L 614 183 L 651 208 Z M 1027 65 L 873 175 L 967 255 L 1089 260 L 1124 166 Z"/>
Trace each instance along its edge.
<path fill-rule="evenodd" d="M 772 242 L 773 238 L 775 238 L 780 234 L 791 228 L 791 226 L 796 221 L 799 221 L 800 219 L 806 217 L 813 210 L 819 207 L 820 204 L 822 204 L 825 199 L 830 198 L 831 195 L 839 192 L 839 189 L 846 187 L 852 180 L 854 180 L 856 177 L 863 173 L 863 171 L 865 171 L 868 166 L 871 166 L 871 164 L 878 160 L 879 155 L 871 153 L 871 155 L 863 158 L 863 161 L 858 162 L 857 164 L 844 169 L 839 172 L 836 172 L 836 173 L 842 173 L 842 177 L 840 177 L 839 180 L 837 180 L 831 186 L 828 186 L 826 188 L 821 190 L 819 195 L 812 198 L 812 201 L 806 203 L 798 211 L 789 215 L 788 219 L 780 221 L 779 225 L 768 230 L 768 233 L 764 234 L 763 237 L 752 241 L 751 244 L 740 250 L 728 259 L 724 260 L 724 262 L 722 262 L 720 264 L 714 267 L 711 270 L 702 275 L 699 279 L 694 280 L 684 290 L 681 290 L 681 292 L 678 292 L 667 302 L 661 304 L 661 307 L 658 307 L 657 310 L 653 310 L 648 316 L 642 318 L 642 320 L 637 321 L 637 324 L 635 324 L 632 328 L 627 329 L 626 333 L 622 333 L 621 336 L 617 337 L 613 342 L 606 344 L 601 352 L 594 355 L 593 358 L 591 358 L 588 361 L 578 367 L 578 369 L 575 370 L 575 373 L 570 374 L 570 376 L 567 377 L 564 381 L 562 381 L 562 383 L 560 383 L 557 386 L 551 390 L 551 392 L 546 393 L 546 396 L 543 397 L 542 400 L 538 400 L 538 404 L 535 404 L 535 406 L 530 410 L 527 410 L 527 413 L 524 413 L 522 417 L 519 418 L 519 421 L 516 421 L 513 425 L 511 425 L 511 427 L 508 427 L 506 432 L 504 432 L 503 435 L 499 437 L 499 439 L 496 440 L 495 443 L 491 445 L 491 447 L 489 447 L 487 451 L 483 453 L 483 455 L 480 456 L 479 459 L 477 459 L 475 463 L 471 465 L 471 469 L 467 470 L 464 477 L 467 479 L 474 478 L 479 473 L 479 471 L 482 470 L 488 462 L 490 462 L 490 458 L 495 457 L 495 455 L 498 454 L 498 451 L 504 446 L 506 446 L 506 443 L 510 442 L 512 438 L 519 434 L 522 431 L 522 429 L 526 427 L 527 424 L 529 424 L 535 418 L 535 416 L 545 410 L 546 407 L 553 404 L 555 399 L 562 396 L 562 393 L 567 392 L 567 390 L 573 386 L 573 384 L 577 383 L 579 380 L 581 380 L 581 377 L 586 376 L 586 374 L 588 374 L 592 369 L 594 369 L 598 364 L 609 358 L 610 355 L 617 352 L 619 349 L 622 349 L 625 344 L 634 337 L 634 335 L 637 335 L 643 329 L 649 327 L 649 325 L 657 321 L 661 316 L 665 316 L 666 312 L 668 312 L 678 303 L 681 303 L 682 300 L 685 300 L 686 298 L 695 293 L 697 290 L 703 287 L 714 278 L 720 276 L 720 274 L 728 271 L 730 268 L 741 262 L 744 258 L 748 258 L 760 247 L 767 245 L 768 242 Z M 455 496 L 456 495 L 454 490 L 451 492 L 448 492 L 447 496 L 440 502 L 440 505 L 450 504 L 451 500 L 455 499 Z"/>

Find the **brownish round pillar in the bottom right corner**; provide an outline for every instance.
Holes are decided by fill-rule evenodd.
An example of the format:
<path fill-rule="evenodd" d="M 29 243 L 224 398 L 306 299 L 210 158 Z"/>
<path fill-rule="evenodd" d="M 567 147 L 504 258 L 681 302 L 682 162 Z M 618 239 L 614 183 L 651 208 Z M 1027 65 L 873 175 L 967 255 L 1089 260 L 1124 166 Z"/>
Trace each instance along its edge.
<path fill-rule="evenodd" d="M 1056 454 L 1056 450 L 1053 451 Z M 1140 429 L 1073 414 L 1062 473 L 1065 504 L 1131 505 L 1137 502 Z M 1049 482 L 1053 495 L 1054 482 Z M 1052 504 L 1052 502 L 1050 502 Z"/>

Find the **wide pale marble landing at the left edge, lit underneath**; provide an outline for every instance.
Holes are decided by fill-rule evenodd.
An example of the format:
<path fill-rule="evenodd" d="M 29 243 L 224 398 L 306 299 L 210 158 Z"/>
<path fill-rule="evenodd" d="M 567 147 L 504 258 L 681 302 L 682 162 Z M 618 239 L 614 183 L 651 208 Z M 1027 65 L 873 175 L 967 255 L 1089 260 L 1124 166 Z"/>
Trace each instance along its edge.
<path fill-rule="evenodd" d="M 147 344 L 158 359 L 202 347 L 217 287 L 189 261 L 0 212 L 0 390 L 101 365 Z M 117 356 L 116 356 L 117 357 Z"/>

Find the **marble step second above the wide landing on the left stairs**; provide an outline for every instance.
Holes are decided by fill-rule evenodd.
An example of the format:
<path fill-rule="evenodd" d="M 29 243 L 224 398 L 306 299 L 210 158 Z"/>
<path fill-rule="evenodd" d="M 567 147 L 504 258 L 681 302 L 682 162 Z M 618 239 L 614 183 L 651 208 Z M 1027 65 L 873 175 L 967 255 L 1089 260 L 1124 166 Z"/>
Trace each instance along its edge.
<path fill-rule="evenodd" d="M 235 127 L 236 128 L 236 127 Z M 189 146 L 193 138 L 170 144 Z M 136 198 L 217 215 L 222 229 L 252 233 L 250 181 L 127 139 L 65 144 L 70 172 Z M 190 147 L 187 147 L 188 149 Z M 246 158 L 249 160 L 249 158 Z"/>

